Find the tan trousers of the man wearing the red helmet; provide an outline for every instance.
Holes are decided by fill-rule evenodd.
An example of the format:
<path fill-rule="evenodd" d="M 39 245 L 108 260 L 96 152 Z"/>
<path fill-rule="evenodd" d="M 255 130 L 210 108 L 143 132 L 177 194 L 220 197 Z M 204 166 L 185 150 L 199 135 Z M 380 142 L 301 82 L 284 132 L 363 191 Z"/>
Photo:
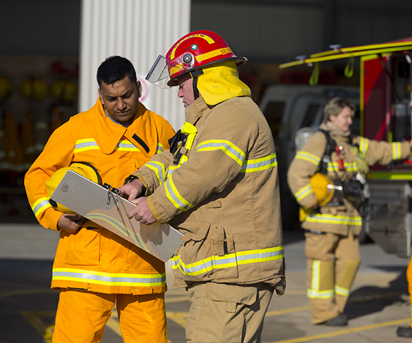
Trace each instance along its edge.
<path fill-rule="evenodd" d="M 273 287 L 205 282 L 190 285 L 187 292 L 192 303 L 185 324 L 187 343 L 261 342 Z"/>

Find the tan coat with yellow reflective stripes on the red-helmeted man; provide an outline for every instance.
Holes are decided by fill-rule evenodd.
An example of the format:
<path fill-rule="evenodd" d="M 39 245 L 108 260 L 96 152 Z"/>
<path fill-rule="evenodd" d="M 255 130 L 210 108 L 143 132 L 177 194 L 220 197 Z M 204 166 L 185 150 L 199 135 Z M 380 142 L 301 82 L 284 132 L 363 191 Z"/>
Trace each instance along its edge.
<path fill-rule="evenodd" d="M 135 173 L 157 220 L 185 235 L 172 257 L 174 287 L 264 282 L 283 294 L 277 158 L 266 119 L 250 97 L 210 107 L 198 98 L 185 119 L 197 129 L 192 150 L 180 149 L 188 161 L 179 167 L 164 152 Z"/>

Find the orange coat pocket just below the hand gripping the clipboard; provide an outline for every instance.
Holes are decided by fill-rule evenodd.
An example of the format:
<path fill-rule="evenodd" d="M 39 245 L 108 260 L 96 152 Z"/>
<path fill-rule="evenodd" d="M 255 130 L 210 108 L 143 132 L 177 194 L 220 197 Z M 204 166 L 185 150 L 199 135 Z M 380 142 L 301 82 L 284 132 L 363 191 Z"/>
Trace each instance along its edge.
<path fill-rule="evenodd" d="M 100 267 L 100 238 L 102 229 L 81 228 L 69 235 L 65 264 Z"/>

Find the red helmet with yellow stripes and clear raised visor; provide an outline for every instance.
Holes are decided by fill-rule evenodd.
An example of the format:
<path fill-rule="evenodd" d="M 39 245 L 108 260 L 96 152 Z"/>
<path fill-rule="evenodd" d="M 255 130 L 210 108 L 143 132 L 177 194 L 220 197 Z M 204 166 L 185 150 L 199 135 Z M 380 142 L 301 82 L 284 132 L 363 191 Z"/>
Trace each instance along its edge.
<path fill-rule="evenodd" d="M 215 32 L 194 31 L 174 43 L 165 58 L 157 58 L 146 80 L 155 84 L 163 80 L 169 87 L 176 86 L 176 78 L 180 75 L 223 60 L 235 60 L 236 65 L 240 65 L 247 58 L 233 54 L 225 40 Z"/>

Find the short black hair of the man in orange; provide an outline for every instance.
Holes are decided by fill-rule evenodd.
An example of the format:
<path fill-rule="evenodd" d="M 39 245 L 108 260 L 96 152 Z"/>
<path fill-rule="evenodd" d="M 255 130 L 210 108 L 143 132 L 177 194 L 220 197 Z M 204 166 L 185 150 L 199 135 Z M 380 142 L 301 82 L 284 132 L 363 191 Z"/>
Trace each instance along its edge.
<path fill-rule="evenodd" d="M 126 76 L 128 76 L 130 82 L 137 82 L 136 71 L 132 62 L 121 56 L 110 56 L 98 68 L 99 87 L 102 87 L 102 82 L 114 84 Z"/>

